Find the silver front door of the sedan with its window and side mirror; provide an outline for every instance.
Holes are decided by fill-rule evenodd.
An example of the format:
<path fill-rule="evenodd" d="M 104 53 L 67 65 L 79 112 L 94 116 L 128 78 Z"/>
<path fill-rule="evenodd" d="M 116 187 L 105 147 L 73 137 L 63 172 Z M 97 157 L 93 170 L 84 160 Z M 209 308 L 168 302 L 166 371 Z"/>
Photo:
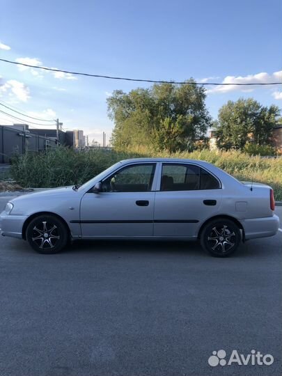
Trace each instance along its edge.
<path fill-rule="evenodd" d="M 81 199 L 82 237 L 150 237 L 153 233 L 156 163 L 121 167 Z"/>

